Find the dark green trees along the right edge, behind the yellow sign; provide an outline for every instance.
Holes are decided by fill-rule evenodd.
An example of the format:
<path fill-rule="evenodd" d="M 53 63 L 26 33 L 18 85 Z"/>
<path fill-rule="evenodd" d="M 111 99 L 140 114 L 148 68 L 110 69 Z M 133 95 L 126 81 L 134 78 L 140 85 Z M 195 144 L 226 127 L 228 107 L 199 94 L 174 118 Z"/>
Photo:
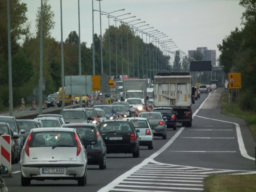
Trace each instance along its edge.
<path fill-rule="evenodd" d="M 240 0 L 239 5 L 245 8 L 242 28 L 236 27 L 218 44 L 219 63 L 227 74 L 241 73 L 240 107 L 256 111 L 256 1 Z M 234 98 L 238 100 L 238 94 Z"/>

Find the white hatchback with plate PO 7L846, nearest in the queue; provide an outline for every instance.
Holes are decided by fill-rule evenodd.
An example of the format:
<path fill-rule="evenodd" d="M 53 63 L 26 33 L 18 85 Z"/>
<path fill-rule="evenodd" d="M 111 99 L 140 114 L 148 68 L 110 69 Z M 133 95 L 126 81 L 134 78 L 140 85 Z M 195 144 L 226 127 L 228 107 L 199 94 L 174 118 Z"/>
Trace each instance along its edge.
<path fill-rule="evenodd" d="M 78 180 L 86 184 L 87 154 L 74 128 L 34 128 L 22 148 L 21 185 L 31 180 Z"/>

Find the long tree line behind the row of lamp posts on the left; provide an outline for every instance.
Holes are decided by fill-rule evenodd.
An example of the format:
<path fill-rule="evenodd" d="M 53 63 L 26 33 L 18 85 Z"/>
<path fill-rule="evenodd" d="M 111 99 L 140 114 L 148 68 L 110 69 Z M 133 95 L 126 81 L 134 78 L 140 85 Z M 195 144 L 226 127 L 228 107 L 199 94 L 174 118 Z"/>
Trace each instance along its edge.
<path fill-rule="evenodd" d="M 39 63 L 40 63 L 40 7 L 36 14 L 36 31 L 30 30 L 30 22 L 26 16 L 26 3 L 20 0 L 10 0 L 10 28 L 11 28 L 11 54 L 12 54 L 12 92 L 13 105 L 20 106 L 21 98 L 33 95 L 33 89 L 38 87 Z M 7 2 L 0 0 L 0 107 L 8 107 L 8 30 L 7 30 Z M 51 36 L 51 30 L 55 26 L 54 12 L 51 10 L 48 0 L 43 1 L 43 78 L 46 81 L 44 95 L 57 92 L 61 86 L 61 50 L 60 43 Z M 122 42 L 121 42 L 122 35 Z M 117 41 L 116 41 L 117 36 Z M 144 34 L 144 38 L 145 38 Z M 110 37 L 110 38 L 109 38 Z M 148 37 L 149 38 L 149 37 Z M 133 43 L 132 43 L 133 39 Z M 94 34 L 95 50 L 95 75 L 101 74 L 100 58 L 101 36 Z M 144 39 L 145 40 L 145 39 Z M 163 49 L 152 44 L 145 43 L 140 35 L 137 35 L 131 27 L 121 24 L 110 26 L 102 35 L 102 55 L 104 73 L 110 74 L 109 60 L 111 63 L 111 75 L 136 78 L 153 78 L 153 69 L 157 71 L 172 71 L 170 62 L 180 70 L 188 69 L 188 58 L 180 60 L 178 53 L 164 54 Z M 152 40 L 152 37 L 151 37 Z M 76 31 L 71 31 L 64 46 L 64 76 L 78 75 L 78 41 Z M 110 50 L 109 50 L 110 42 Z M 81 42 L 81 69 L 82 75 L 92 75 L 92 51 L 93 47 Z M 117 47 L 117 50 L 116 50 Z M 121 52 L 121 50 L 123 50 Z M 143 50 L 143 55 L 142 55 Z M 116 55 L 117 52 L 117 55 Z M 110 58 L 109 58 L 110 55 Z M 143 61 L 143 62 L 142 62 Z M 183 61 L 183 63 L 182 63 Z M 133 70 L 133 64 L 134 69 Z"/>

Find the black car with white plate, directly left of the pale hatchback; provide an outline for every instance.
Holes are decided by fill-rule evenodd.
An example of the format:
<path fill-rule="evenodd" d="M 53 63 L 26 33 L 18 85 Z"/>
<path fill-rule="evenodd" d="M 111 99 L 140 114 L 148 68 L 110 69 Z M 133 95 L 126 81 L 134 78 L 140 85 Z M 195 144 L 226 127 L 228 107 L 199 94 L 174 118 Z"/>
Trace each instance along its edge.
<path fill-rule="evenodd" d="M 105 120 L 100 122 L 99 130 L 108 154 L 132 153 L 132 157 L 140 156 L 139 136 L 129 120 Z"/>

